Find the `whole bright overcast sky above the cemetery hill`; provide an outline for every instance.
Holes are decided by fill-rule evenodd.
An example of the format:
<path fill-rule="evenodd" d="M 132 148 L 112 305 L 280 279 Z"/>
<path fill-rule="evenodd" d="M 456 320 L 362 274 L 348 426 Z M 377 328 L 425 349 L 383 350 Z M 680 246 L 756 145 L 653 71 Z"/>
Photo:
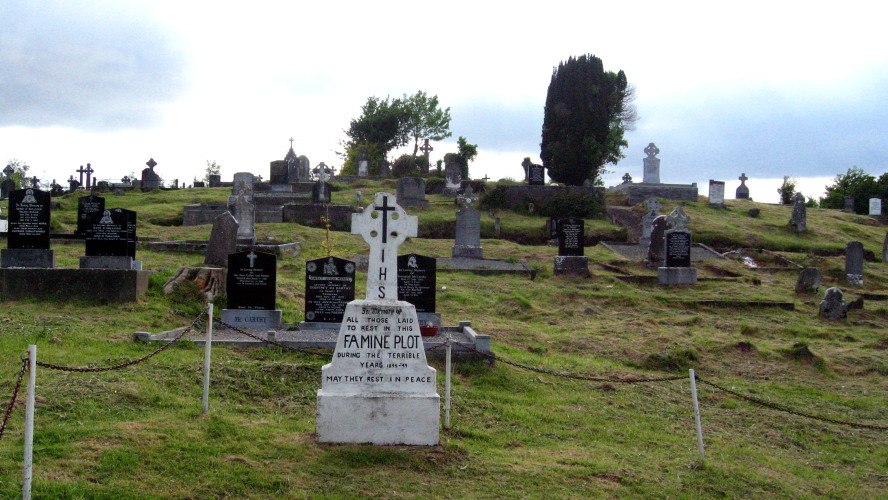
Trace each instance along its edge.
<path fill-rule="evenodd" d="M 782 176 L 818 197 L 837 173 L 888 170 L 888 7 L 810 2 L 219 2 L 0 0 L 0 161 L 43 180 L 90 162 L 100 179 L 153 157 L 191 183 L 268 178 L 294 139 L 339 166 L 343 129 L 369 96 L 423 90 L 478 144 L 473 177 L 522 178 L 539 161 L 559 61 L 595 54 L 626 72 L 640 120 L 626 172 L 660 148 L 661 181 L 746 173 L 775 201 Z M 76 177 L 76 174 L 75 174 Z"/>

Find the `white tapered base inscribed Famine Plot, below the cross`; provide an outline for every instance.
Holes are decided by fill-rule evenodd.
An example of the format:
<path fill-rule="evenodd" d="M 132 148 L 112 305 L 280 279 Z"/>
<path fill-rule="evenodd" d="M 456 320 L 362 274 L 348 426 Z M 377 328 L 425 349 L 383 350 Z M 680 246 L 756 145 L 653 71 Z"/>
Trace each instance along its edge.
<path fill-rule="evenodd" d="M 333 361 L 321 369 L 318 442 L 438 444 L 435 375 L 412 304 L 349 302 Z"/>

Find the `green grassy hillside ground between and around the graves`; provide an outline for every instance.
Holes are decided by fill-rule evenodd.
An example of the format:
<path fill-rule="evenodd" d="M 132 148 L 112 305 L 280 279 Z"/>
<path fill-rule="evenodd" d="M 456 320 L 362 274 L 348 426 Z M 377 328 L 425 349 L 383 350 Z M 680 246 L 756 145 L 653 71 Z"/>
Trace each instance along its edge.
<path fill-rule="evenodd" d="M 341 186 L 335 203 L 364 200 L 394 183 Z M 228 189 L 108 195 L 107 206 L 136 210 L 139 235 L 206 239 L 209 226 L 181 227 L 182 206 L 218 202 Z M 455 207 L 431 196 L 420 237 L 403 252 L 449 256 Z M 58 232 L 75 226 L 76 196 L 59 199 Z M 674 204 L 666 203 L 668 213 Z M 749 208 L 759 208 L 757 218 Z M 789 207 L 728 201 L 690 203 L 694 240 L 720 250 L 764 248 L 817 267 L 825 286 L 852 300 L 888 294 L 881 262 L 886 226 L 870 217 L 809 209 L 803 235 L 790 232 Z M 504 359 L 597 377 L 687 375 L 694 368 L 742 394 L 839 420 L 888 425 L 888 301 L 866 299 L 846 320 L 817 317 L 815 294 L 793 291 L 797 272 L 754 270 L 735 260 L 698 264 L 694 287 L 663 288 L 619 276 L 655 270 L 598 245 L 587 248 L 593 276 L 552 276 L 556 248 L 521 244 L 544 235 L 545 218 L 500 212 L 503 237 L 482 219 L 485 257 L 526 259 L 536 280 L 440 273 L 438 311 L 445 324 L 471 320 Z M 608 220 L 587 221 L 590 241 L 625 239 Z M 452 233 L 451 233 L 452 234 Z M 278 306 L 302 319 L 304 262 L 325 256 L 325 232 L 259 224 L 259 239 L 298 241 L 302 252 L 279 261 Z M 876 261 L 865 284 L 843 282 L 841 251 L 859 240 Z M 332 235 L 334 255 L 366 253 L 358 236 Z M 56 244 L 57 265 L 77 267 L 82 244 Z M 102 366 L 147 354 L 134 331 L 183 326 L 202 304 L 161 286 L 203 256 L 139 249 L 155 271 L 138 303 L 0 302 L 0 400 L 8 401 L 22 352 L 37 344 L 45 362 Z M 765 257 L 764 255 L 762 257 Z M 763 264 L 768 264 L 764 262 Z M 360 275 L 358 296 L 362 296 Z M 730 300 L 712 307 L 703 300 Z M 744 301 L 785 302 L 793 310 Z M 36 498 L 380 498 L 412 497 L 829 497 L 876 498 L 888 488 L 888 432 L 859 429 L 761 408 L 699 385 L 707 460 L 697 458 L 689 384 L 590 382 L 506 363 L 455 368 L 453 421 L 437 447 L 318 445 L 315 391 L 323 357 L 278 349 L 213 351 L 211 413 L 201 414 L 203 349 L 182 343 L 146 363 L 104 373 L 38 371 Z M 443 394 L 443 364 L 439 393 Z M 0 409 L 5 408 L 5 403 Z M 23 411 L 0 441 L 0 495 L 20 492 Z"/>

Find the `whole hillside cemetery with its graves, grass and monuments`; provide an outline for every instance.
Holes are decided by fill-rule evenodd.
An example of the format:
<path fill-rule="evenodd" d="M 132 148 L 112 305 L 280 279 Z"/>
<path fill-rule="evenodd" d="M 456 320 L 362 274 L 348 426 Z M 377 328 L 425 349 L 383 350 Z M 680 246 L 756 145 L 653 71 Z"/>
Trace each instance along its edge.
<path fill-rule="evenodd" d="M 545 197 L 490 205 L 499 187 L 559 186 L 419 196 L 394 178 L 334 177 L 312 200 L 272 190 L 294 184 L 287 164 L 269 173 L 288 177 L 267 193 L 306 195 L 306 208 L 329 198 L 348 224 L 266 219 L 257 182 L 250 203 L 240 177 L 104 200 L 78 191 L 51 212 L 26 190 L 10 193 L 15 214 L 3 202 L 0 396 L 36 345 L 35 492 L 883 494 L 881 219 L 728 198 L 720 181 L 720 203 L 696 186 L 640 199 L 579 188 L 602 208 L 581 215 L 550 213 Z M 404 189 L 418 203 L 401 205 Z M 195 205 L 219 210 L 184 223 Z M 128 273 L 143 290 L 34 293 L 60 271 L 53 286 L 71 294 L 120 294 Z M 4 497 L 20 493 L 26 414 L 15 404 L 0 431 Z"/>

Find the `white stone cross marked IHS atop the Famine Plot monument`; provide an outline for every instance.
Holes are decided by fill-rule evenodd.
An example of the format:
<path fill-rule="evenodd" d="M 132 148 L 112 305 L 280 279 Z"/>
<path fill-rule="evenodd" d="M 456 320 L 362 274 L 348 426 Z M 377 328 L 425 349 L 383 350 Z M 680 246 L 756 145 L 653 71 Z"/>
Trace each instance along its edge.
<path fill-rule="evenodd" d="M 417 217 L 407 215 L 391 193 L 376 193 L 373 203 L 352 214 L 352 234 L 370 245 L 367 300 L 398 299 L 398 247 L 417 235 Z"/>

